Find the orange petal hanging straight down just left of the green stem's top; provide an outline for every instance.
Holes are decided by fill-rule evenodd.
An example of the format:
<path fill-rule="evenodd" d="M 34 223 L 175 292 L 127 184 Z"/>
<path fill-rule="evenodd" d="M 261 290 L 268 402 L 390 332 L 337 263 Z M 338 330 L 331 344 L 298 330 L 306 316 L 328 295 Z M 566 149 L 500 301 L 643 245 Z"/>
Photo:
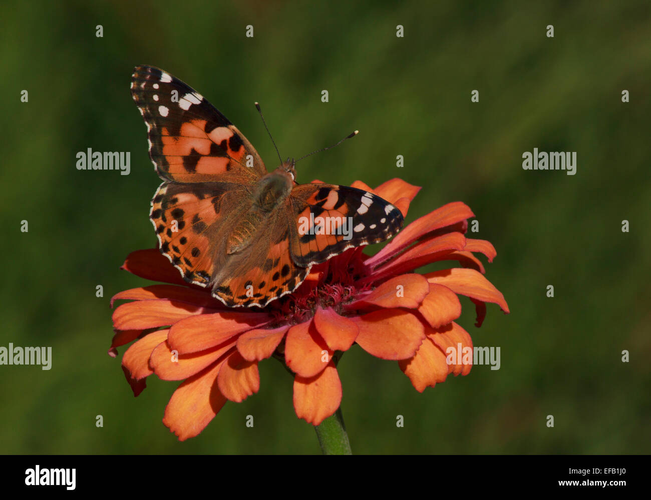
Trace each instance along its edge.
<path fill-rule="evenodd" d="M 296 416 L 312 425 L 319 425 L 334 414 L 341 404 L 341 381 L 335 363 L 316 376 L 294 377 L 294 410 Z"/>

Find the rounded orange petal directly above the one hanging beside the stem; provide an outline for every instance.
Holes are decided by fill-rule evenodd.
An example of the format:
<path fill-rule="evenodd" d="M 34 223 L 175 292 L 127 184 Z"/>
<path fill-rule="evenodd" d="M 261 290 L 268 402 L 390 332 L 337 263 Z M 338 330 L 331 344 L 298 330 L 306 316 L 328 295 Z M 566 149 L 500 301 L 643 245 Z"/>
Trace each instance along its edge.
<path fill-rule="evenodd" d="M 327 347 L 312 319 L 295 324 L 285 339 L 285 362 L 294 373 L 311 377 L 321 373 L 334 351 Z"/>

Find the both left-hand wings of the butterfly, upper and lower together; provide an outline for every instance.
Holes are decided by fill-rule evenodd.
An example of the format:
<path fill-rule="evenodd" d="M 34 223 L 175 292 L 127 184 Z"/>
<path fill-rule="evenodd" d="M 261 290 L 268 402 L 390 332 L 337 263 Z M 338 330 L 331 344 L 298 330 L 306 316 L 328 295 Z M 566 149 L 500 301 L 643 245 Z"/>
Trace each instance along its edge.
<path fill-rule="evenodd" d="M 229 228 L 247 210 L 249 187 L 266 168 L 247 138 L 176 77 L 137 66 L 131 89 L 147 125 L 150 158 L 165 180 L 150 211 L 160 251 L 186 282 L 208 287 Z"/>

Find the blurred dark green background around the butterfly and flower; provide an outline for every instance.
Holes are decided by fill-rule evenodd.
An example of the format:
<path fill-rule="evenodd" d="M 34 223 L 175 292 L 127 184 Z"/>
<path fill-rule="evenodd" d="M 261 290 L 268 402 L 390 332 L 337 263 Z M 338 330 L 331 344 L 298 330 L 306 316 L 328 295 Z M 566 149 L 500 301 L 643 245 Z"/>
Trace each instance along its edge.
<path fill-rule="evenodd" d="M 490 304 L 475 328 L 462 299 L 460 324 L 501 347 L 501 369 L 421 394 L 396 362 L 353 348 L 339 373 L 354 453 L 649 453 L 650 18 L 648 1 L 5 4 L 0 345 L 52 346 L 53 363 L 0 366 L 0 453 L 320 453 L 275 360 L 260 363 L 259 393 L 180 443 L 161 423 L 178 383 L 150 377 L 134 398 L 125 348 L 106 354 L 111 296 L 149 284 L 118 268 L 156 241 L 136 64 L 196 88 L 268 168 L 254 101 L 284 157 L 359 129 L 301 162 L 298 180 L 400 176 L 422 186 L 407 222 L 461 200 L 480 222 L 471 236 L 497 248 L 486 276 L 512 312 Z M 576 175 L 523 170 L 534 147 L 577 151 Z M 87 148 L 131 151 L 131 174 L 76 170 Z"/>

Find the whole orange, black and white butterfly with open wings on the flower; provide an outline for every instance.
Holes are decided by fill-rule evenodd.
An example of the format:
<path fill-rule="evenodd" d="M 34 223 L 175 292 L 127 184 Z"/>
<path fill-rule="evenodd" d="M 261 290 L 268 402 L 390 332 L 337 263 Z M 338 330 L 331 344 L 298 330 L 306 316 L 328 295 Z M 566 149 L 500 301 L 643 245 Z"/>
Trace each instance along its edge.
<path fill-rule="evenodd" d="M 163 179 L 150 211 L 159 250 L 226 306 L 264 307 L 312 265 L 402 228 L 400 210 L 376 194 L 298 184 L 294 160 L 268 172 L 235 125 L 163 70 L 136 66 L 131 93 Z"/>

